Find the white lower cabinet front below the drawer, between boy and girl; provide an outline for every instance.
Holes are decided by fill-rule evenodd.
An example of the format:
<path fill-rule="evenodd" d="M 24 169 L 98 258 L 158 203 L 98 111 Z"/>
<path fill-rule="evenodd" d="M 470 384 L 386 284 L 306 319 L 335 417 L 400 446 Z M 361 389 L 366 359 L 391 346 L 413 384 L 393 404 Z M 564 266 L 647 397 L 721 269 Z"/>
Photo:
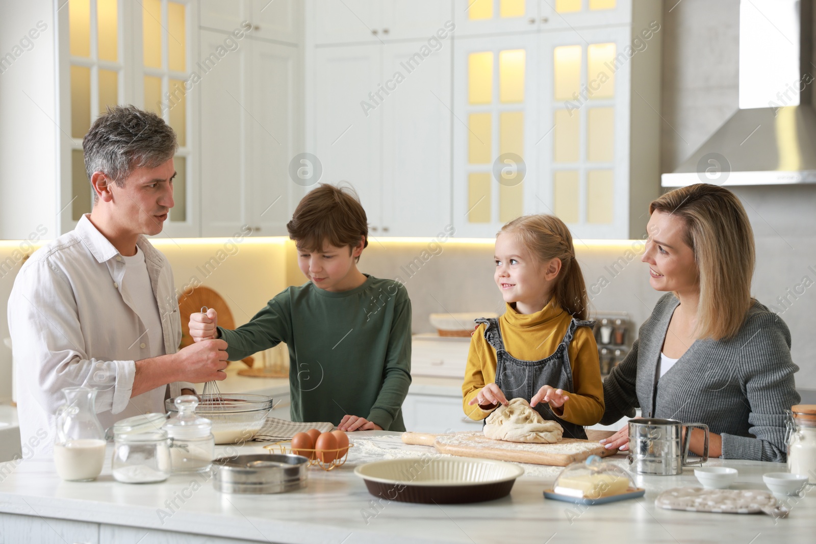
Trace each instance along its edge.
<path fill-rule="evenodd" d="M 464 414 L 462 396 L 409 394 L 402 403 L 402 418 L 406 430 L 415 432 L 481 431 L 482 426 Z"/>

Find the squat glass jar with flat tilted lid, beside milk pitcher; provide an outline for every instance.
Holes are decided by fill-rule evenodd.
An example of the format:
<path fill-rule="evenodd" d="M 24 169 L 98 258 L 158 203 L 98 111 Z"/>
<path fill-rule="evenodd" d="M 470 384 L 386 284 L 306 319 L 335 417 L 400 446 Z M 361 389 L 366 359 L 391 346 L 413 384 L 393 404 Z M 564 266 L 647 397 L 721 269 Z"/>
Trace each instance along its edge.
<path fill-rule="evenodd" d="M 113 478 L 126 484 L 161 482 L 171 474 L 166 414 L 142 414 L 113 424 Z"/>

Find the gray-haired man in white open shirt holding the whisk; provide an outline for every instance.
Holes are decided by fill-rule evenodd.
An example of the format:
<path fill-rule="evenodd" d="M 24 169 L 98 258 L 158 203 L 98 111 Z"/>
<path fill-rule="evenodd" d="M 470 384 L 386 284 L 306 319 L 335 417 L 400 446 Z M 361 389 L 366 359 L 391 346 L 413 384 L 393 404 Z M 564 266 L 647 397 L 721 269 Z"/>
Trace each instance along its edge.
<path fill-rule="evenodd" d="M 23 442 L 51 435 L 63 387 L 97 389 L 97 415 L 109 427 L 164 412 L 166 398 L 193 392 L 180 380 L 226 378 L 223 340 L 178 351 L 173 274 L 144 237 L 162 232 L 173 207 L 175 133 L 153 113 L 116 107 L 96 119 L 82 148 L 93 210 L 34 252 L 9 298 Z"/>

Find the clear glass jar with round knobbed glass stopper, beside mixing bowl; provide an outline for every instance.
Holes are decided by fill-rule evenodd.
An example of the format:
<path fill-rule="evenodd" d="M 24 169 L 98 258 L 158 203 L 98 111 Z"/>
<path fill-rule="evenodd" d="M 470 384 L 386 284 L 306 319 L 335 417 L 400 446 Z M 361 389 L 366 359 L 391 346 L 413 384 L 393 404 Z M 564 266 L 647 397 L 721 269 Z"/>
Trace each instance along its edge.
<path fill-rule="evenodd" d="M 212 422 L 196 415 L 197 396 L 178 396 L 173 404 L 178 413 L 164 424 L 164 430 L 172 440 L 173 472 L 209 471 L 215 456 Z"/>

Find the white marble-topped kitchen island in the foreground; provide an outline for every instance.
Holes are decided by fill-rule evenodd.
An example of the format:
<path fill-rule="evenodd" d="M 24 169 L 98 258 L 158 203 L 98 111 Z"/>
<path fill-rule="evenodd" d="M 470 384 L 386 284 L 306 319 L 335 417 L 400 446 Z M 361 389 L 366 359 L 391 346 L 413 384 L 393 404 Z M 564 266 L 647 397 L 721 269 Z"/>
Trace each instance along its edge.
<path fill-rule="evenodd" d="M 208 476 L 174 475 L 160 484 L 113 480 L 110 461 L 93 482 L 60 480 L 51 459 L 0 465 L 0 542 L 805 542 L 816 534 L 816 489 L 789 498 L 787 519 L 769 515 L 704 514 L 655 508 L 663 490 L 698 486 L 694 471 L 638 476 L 644 498 L 601 506 L 545 500 L 557 467 L 525 465 L 506 498 L 469 505 L 424 505 L 375 498 L 353 467 L 383 458 L 436 456 L 402 444 L 399 433 L 350 433 L 348 462 L 333 471 L 309 469 L 308 487 L 272 495 L 227 495 Z M 249 442 L 240 453 L 264 453 Z M 110 444 L 109 444 L 110 453 Z M 223 453 L 219 446 L 217 453 Z M 110 457 L 110 456 L 109 456 Z M 611 458 L 626 467 L 623 455 Z M 762 474 L 784 471 L 769 462 L 714 459 L 738 469 L 734 489 L 765 489 Z"/>

